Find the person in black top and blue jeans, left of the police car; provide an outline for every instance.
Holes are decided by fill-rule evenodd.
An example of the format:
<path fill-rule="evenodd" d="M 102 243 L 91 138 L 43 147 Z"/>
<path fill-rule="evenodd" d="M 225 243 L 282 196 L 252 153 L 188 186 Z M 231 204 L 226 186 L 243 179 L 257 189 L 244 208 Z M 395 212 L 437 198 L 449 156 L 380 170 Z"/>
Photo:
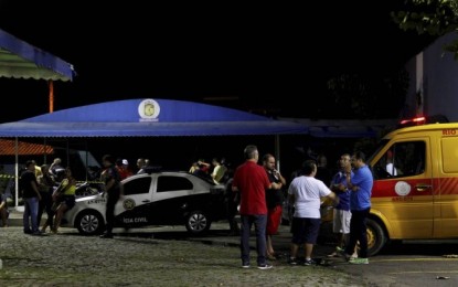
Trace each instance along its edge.
<path fill-rule="evenodd" d="M 21 174 L 21 182 L 23 187 L 22 198 L 24 199 L 24 233 L 41 235 L 38 222 L 39 202 L 41 201 L 41 194 L 35 177 L 35 161 L 28 160 L 25 162 L 25 170 Z M 32 228 L 30 227 L 31 224 Z"/>

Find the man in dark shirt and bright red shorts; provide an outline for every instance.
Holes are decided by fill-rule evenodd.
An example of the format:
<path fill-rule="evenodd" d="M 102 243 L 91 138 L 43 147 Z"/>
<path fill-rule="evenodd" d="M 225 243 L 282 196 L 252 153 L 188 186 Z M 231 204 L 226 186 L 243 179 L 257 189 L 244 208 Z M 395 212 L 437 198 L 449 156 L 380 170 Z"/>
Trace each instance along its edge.
<path fill-rule="evenodd" d="M 277 259 L 274 246 L 271 244 L 271 236 L 277 234 L 278 226 L 281 223 L 283 203 L 285 196 L 283 193 L 283 187 L 286 185 L 285 178 L 278 170 L 275 169 L 275 157 L 267 153 L 263 157 L 263 167 L 267 172 L 267 177 L 270 182 L 276 183 L 276 189 L 266 190 L 266 203 L 267 203 L 267 227 L 266 227 L 266 244 L 267 244 L 267 258 L 270 261 Z"/>

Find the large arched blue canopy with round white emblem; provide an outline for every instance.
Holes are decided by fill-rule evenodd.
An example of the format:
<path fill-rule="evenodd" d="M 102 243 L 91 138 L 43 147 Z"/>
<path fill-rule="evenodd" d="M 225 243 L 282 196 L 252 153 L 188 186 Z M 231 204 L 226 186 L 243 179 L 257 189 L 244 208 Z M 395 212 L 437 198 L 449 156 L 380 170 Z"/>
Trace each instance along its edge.
<path fill-rule="evenodd" d="M 0 137 L 178 137 L 307 134 L 305 125 L 206 104 L 127 99 L 0 125 Z"/>

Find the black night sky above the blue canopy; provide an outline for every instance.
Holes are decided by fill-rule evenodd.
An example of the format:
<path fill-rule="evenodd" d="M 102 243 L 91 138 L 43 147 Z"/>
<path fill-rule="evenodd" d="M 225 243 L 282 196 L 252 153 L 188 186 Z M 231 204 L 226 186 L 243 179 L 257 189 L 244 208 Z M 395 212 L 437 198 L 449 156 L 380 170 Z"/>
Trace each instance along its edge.
<path fill-rule="evenodd" d="M 391 21 L 402 1 L 316 2 L 0 0 L 0 28 L 75 66 L 55 83 L 55 110 L 170 98 L 309 117 L 297 102 L 330 77 L 383 76 L 426 43 Z M 44 81 L 0 78 L 0 123 L 47 113 Z"/>

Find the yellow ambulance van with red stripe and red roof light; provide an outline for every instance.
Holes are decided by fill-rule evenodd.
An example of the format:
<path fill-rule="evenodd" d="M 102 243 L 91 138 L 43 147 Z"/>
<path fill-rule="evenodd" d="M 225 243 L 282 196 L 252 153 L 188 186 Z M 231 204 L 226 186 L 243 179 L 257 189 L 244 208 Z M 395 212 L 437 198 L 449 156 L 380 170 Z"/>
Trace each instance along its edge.
<path fill-rule="evenodd" d="M 369 255 L 387 242 L 458 238 L 458 123 L 398 128 L 368 159 Z"/>

